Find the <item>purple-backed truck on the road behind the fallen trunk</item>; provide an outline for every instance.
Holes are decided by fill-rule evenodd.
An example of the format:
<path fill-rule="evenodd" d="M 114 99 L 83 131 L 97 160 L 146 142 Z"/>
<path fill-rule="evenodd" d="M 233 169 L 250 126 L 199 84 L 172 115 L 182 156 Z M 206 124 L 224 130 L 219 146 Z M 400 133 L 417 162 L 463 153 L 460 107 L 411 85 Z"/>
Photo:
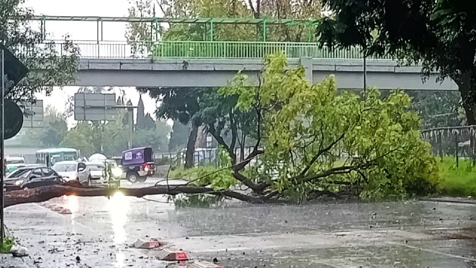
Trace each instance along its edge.
<path fill-rule="evenodd" d="M 138 147 L 123 151 L 122 168 L 129 182 L 145 182 L 147 176 L 154 175 L 155 171 L 152 148 Z"/>

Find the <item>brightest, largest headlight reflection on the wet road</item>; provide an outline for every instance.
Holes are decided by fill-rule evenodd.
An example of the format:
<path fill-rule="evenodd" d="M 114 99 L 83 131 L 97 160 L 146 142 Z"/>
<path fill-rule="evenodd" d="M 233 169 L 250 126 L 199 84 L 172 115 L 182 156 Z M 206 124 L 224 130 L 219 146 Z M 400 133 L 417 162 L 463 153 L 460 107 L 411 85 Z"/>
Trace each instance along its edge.
<path fill-rule="evenodd" d="M 113 242 L 122 244 L 127 239 L 124 226 L 129 212 L 129 200 L 120 192 L 116 192 L 107 203 L 107 210 L 111 216 L 113 227 Z"/>

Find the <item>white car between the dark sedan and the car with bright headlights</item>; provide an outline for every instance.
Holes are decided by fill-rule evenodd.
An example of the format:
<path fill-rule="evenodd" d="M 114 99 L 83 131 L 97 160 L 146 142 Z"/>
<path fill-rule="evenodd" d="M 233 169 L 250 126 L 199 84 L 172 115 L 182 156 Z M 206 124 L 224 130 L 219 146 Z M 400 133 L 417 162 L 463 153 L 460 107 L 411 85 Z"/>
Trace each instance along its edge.
<path fill-rule="evenodd" d="M 65 181 L 76 180 L 82 185 L 91 185 L 91 173 L 84 162 L 60 161 L 55 163 L 52 168 L 58 172 Z"/>

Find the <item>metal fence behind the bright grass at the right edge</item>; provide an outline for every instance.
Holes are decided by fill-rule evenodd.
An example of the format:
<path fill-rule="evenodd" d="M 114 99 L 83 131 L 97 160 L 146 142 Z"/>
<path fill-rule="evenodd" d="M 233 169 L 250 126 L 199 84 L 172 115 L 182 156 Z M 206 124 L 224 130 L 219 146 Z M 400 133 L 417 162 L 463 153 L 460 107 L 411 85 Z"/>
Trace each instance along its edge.
<path fill-rule="evenodd" d="M 434 154 L 443 158 L 455 157 L 456 166 L 460 158 L 472 159 L 476 164 L 476 126 L 442 127 L 421 131 L 422 138 L 431 144 Z"/>

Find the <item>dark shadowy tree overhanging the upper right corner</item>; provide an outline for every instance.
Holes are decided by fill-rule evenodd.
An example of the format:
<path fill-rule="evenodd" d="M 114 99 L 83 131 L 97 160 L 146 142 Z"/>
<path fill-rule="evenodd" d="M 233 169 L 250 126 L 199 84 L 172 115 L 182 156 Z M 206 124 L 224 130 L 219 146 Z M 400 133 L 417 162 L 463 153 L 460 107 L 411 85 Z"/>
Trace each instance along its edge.
<path fill-rule="evenodd" d="M 322 45 L 420 63 L 423 74 L 458 84 L 467 124 L 476 125 L 476 9 L 471 0 L 324 0 Z M 412 29 L 412 30 L 409 30 Z"/>

